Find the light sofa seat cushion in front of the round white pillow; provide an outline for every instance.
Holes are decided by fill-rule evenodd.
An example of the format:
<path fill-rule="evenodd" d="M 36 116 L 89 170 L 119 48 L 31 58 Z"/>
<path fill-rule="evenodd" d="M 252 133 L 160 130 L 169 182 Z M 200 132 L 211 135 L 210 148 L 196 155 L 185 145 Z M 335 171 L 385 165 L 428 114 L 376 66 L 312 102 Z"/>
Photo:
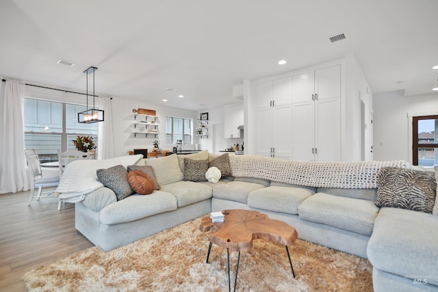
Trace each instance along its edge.
<path fill-rule="evenodd" d="M 163 185 L 161 190 L 177 197 L 179 208 L 211 198 L 211 187 L 193 181 L 177 181 Z"/>

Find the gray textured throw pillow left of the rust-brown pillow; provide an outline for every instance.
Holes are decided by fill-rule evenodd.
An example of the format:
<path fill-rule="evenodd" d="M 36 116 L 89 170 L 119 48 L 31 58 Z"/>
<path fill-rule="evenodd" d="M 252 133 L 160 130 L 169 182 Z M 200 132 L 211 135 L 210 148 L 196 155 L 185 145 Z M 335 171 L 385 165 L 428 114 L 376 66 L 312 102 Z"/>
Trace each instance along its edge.
<path fill-rule="evenodd" d="M 112 168 L 96 170 L 99 181 L 116 193 L 117 200 L 123 200 L 133 193 L 128 182 L 128 172 L 123 165 L 116 165 Z"/>

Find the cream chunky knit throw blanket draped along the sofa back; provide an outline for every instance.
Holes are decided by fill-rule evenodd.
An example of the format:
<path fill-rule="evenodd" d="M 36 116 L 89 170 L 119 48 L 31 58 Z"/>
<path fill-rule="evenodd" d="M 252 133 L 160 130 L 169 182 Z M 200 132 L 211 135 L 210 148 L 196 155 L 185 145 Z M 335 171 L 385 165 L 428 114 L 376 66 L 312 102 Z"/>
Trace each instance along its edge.
<path fill-rule="evenodd" d="M 376 188 L 381 168 L 410 166 L 407 161 L 294 161 L 255 155 L 229 155 L 229 160 L 235 177 L 342 189 Z"/>

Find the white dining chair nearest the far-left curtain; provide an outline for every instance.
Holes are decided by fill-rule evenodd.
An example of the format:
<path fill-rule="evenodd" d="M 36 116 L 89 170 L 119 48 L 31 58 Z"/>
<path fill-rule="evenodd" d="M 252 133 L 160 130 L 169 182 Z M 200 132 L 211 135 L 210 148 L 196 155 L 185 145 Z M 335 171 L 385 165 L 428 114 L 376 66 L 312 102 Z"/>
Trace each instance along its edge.
<path fill-rule="evenodd" d="M 47 195 L 42 196 L 42 188 L 57 187 L 57 185 L 60 184 L 60 177 L 42 176 L 40 159 L 35 150 L 25 150 L 25 155 L 26 155 L 27 165 L 29 165 L 29 169 L 30 169 L 31 192 L 29 196 L 29 202 L 27 203 L 27 206 L 29 206 L 34 198 L 40 200 L 40 198 L 51 196 L 51 194 L 53 194 L 53 191 L 44 192 Z M 38 187 L 38 194 L 37 196 L 34 196 L 36 187 Z"/>

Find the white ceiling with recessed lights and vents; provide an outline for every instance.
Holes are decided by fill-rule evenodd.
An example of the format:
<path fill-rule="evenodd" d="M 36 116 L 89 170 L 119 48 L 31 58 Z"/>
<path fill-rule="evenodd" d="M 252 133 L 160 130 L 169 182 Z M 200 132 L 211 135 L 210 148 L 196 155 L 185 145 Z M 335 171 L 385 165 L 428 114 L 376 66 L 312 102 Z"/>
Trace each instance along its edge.
<path fill-rule="evenodd" d="M 352 51 L 374 93 L 425 94 L 437 12 L 437 0 L 1 0 L 0 76 L 85 90 L 96 66 L 99 94 L 200 110 L 235 102 L 244 79 Z"/>

